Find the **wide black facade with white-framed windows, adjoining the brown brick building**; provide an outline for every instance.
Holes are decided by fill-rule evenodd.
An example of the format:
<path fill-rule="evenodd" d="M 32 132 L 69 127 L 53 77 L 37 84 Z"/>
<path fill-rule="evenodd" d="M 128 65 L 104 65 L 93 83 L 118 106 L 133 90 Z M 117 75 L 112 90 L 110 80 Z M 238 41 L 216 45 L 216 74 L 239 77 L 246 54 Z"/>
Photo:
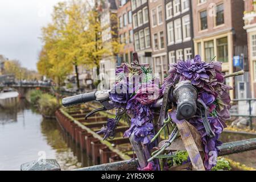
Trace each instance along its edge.
<path fill-rule="evenodd" d="M 165 0 L 167 53 L 170 64 L 194 56 L 192 1 Z"/>

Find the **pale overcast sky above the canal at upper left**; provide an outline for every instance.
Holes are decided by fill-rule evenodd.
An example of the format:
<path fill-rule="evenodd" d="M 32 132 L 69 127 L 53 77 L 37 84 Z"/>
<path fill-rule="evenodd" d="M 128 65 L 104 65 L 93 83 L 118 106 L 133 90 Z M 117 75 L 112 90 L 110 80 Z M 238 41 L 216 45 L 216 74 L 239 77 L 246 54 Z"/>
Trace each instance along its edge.
<path fill-rule="evenodd" d="M 53 6 L 61 0 L 0 0 L 0 55 L 36 69 L 41 27 L 51 22 Z"/>

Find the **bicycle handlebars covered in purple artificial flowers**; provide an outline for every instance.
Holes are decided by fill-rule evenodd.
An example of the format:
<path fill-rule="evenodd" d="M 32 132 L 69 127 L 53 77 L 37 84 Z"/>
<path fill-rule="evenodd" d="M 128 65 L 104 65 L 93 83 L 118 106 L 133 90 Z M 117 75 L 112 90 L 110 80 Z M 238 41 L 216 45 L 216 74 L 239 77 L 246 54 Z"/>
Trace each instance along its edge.
<path fill-rule="evenodd" d="M 64 98 L 63 105 L 101 102 L 103 107 L 86 118 L 116 109 L 116 117 L 108 119 L 98 134 L 113 138 L 119 120 L 126 118 L 130 127 L 123 137 L 130 139 L 139 170 L 210 170 L 217 162 L 218 138 L 230 118 L 232 87 L 225 85 L 225 78 L 241 74 L 224 75 L 221 62 L 207 63 L 196 55 L 171 64 L 160 84 L 134 53 L 131 65 L 117 67 L 112 89 Z M 186 160 L 175 161 L 181 154 L 188 156 Z"/>

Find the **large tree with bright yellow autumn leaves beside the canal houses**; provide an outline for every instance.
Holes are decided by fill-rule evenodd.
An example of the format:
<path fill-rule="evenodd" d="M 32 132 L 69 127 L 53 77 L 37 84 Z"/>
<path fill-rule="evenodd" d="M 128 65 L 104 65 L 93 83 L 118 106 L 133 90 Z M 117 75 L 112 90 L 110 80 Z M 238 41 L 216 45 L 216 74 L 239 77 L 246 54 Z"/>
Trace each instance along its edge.
<path fill-rule="evenodd" d="M 42 28 L 44 46 L 37 64 L 39 73 L 54 79 L 60 86 L 75 68 L 77 88 L 80 88 L 79 65 L 87 69 L 99 68 L 102 56 L 116 54 L 121 48 L 118 39 L 102 42 L 101 32 L 97 3 L 93 8 L 81 0 L 58 3 L 52 23 Z"/>

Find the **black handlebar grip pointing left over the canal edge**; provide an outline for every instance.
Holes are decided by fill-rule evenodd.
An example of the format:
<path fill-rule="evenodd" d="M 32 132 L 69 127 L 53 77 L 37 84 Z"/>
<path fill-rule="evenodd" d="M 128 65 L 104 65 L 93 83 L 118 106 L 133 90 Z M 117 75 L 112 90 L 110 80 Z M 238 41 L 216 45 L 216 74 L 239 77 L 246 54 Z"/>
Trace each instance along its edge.
<path fill-rule="evenodd" d="M 89 101 L 96 100 L 96 92 L 84 93 L 77 96 L 66 97 L 62 100 L 62 105 L 68 107 L 71 105 L 82 104 Z"/>

